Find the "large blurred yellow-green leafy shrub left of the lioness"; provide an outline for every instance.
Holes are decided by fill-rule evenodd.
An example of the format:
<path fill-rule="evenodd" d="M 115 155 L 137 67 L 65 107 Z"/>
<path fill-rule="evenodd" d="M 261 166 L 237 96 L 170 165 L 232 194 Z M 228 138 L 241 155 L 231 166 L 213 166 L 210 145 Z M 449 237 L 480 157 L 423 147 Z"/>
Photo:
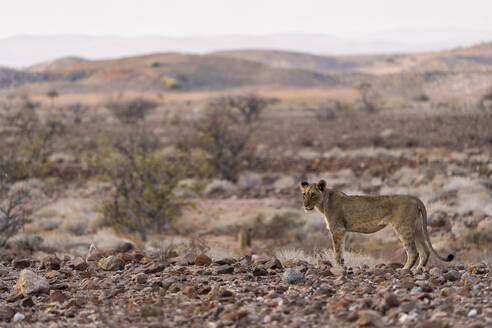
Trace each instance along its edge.
<path fill-rule="evenodd" d="M 151 136 L 130 136 L 115 145 L 118 160 L 106 168 L 113 193 L 102 202 L 102 214 L 143 241 L 149 232 L 169 229 L 188 204 L 175 192 L 187 173 L 186 159 L 161 155 L 158 146 Z"/>

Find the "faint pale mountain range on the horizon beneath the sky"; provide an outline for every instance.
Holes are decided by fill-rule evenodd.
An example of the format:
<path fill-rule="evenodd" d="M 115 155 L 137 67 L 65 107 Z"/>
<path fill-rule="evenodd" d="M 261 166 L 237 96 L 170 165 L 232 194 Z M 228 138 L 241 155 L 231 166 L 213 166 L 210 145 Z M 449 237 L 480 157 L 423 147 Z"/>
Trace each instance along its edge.
<path fill-rule="evenodd" d="M 449 49 L 491 39 L 488 31 L 458 32 L 449 29 L 396 31 L 360 39 L 339 38 L 322 33 L 200 37 L 18 35 L 0 39 L 0 66 L 27 67 L 68 56 L 95 60 L 161 52 L 205 54 L 227 49 L 274 49 L 331 56 L 415 53 Z M 425 36 L 424 39 L 422 39 L 423 36 Z M 429 42 L 429 40 L 433 41 Z"/>

